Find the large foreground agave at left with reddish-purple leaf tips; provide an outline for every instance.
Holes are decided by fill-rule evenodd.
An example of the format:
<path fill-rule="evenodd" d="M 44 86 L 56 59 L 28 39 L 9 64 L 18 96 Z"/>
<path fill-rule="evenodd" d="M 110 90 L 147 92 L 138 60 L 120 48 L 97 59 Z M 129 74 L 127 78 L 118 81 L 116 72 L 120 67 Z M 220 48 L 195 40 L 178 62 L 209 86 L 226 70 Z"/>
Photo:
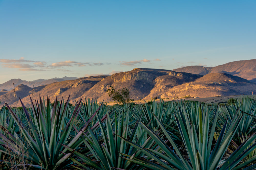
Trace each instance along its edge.
<path fill-rule="evenodd" d="M 9 143 L 8 148 L 2 151 L 7 153 L 8 149 L 15 150 L 17 147 L 16 143 L 18 143 L 20 152 L 29 151 L 28 155 L 26 155 L 26 159 L 28 160 L 26 166 L 28 167 L 37 169 L 60 169 L 70 167 L 69 163 L 71 160 L 68 160 L 68 158 L 80 144 L 76 142 L 81 133 L 71 138 L 70 132 L 80 112 L 81 106 L 79 105 L 81 100 L 74 108 L 72 114 L 69 113 L 68 109 L 69 98 L 65 107 L 63 107 L 64 102 L 62 102 L 62 100 L 57 107 L 56 96 L 53 108 L 48 98 L 47 106 L 45 106 L 44 100 L 42 100 L 41 97 L 39 97 L 39 102 L 37 100 L 35 105 L 31 98 L 30 101 L 32 109 L 28 112 L 20 100 L 26 116 L 27 126 L 24 125 L 17 114 L 6 104 L 23 138 L 21 138 L 21 135 L 12 135 L 10 133 L 9 136 L 1 135 L 2 139 Z M 8 133 L 8 131 L 6 131 L 6 133 Z M 70 145 L 73 151 L 64 154 L 65 148 L 62 144 Z M 8 160 L 5 162 L 8 163 Z"/>

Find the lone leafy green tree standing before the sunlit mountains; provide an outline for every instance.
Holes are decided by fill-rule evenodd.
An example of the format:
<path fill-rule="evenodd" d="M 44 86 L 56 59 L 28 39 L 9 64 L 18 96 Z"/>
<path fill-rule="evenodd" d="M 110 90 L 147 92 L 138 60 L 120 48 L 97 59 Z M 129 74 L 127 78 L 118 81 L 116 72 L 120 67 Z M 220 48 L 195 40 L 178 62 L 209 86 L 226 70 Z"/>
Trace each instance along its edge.
<path fill-rule="evenodd" d="M 130 103 L 131 101 L 129 90 L 127 88 L 119 89 L 116 91 L 112 86 L 110 86 L 110 89 L 108 89 L 106 93 L 108 93 L 112 100 L 120 104 Z"/>

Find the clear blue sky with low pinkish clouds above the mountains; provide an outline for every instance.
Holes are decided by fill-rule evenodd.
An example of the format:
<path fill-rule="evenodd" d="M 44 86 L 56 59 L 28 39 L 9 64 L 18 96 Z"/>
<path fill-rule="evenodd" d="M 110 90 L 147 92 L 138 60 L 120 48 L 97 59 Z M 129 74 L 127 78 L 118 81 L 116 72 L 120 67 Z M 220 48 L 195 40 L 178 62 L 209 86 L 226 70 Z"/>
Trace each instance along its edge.
<path fill-rule="evenodd" d="M 255 54 L 255 0 L 0 0 L 0 84 L 214 67 Z"/>

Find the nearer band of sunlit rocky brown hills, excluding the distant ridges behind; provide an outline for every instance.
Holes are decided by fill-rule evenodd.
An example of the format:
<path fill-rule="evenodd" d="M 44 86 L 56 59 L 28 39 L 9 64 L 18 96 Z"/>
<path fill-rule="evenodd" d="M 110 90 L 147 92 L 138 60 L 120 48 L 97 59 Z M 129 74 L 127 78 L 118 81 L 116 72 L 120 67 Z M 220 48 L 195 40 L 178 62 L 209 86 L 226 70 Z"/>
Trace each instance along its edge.
<path fill-rule="evenodd" d="M 49 97 L 67 99 L 74 104 L 79 99 L 97 99 L 111 101 L 106 90 L 113 86 L 116 90 L 128 88 L 134 100 L 157 98 L 214 97 L 225 95 L 249 95 L 256 91 L 256 83 L 226 73 L 206 75 L 175 72 L 172 70 L 137 68 L 128 72 L 115 73 L 111 76 L 90 76 L 76 80 L 54 82 L 38 87 L 18 85 L 10 91 L 0 91 L 1 106 L 3 101 L 9 105 L 20 106 L 20 97 L 25 105 L 34 100 Z M 18 101 L 18 102 L 17 102 Z"/>

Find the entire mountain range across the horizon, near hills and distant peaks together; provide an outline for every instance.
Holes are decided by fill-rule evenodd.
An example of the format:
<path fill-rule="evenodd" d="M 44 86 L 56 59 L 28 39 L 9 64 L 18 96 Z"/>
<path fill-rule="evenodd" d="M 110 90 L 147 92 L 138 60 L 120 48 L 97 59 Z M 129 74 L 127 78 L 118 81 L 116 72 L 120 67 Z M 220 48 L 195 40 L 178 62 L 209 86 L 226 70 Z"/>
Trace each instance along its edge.
<path fill-rule="evenodd" d="M 247 80 L 244 79 L 245 77 Z M 65 81 L 65 79 L 73 80 Z M 56 95 L 63 99 L 70 95 L 72 104 L 81 98 L 111 101 L 106 93 L 110 86 L 116 90 L 129 89 L 130 96 L 134 100 L 154 97 L 183 98 L 188 95 L 191 97 L 248 95 L 256 89 L 256 83 L 248 80 L 256 81 L 256 59 L 229 62 L 216 67 L 188 66 L 173 71 L 135 68 L 111 76 L 98 75 L 79 79 L 67 76 L 49 80 L 38 79 L 38 82 L 12 79 L 0 84 L 0 90 L 8 90 L 0 91 L 0 100 L 8 100 L 8 104 L 14 104 L 17 101 L 17 98 L 14 98 L 15 93 L 26 106 L 30 103 L 29 95 L 32 98 L 37 98 L 39 95 L 45 98 L 48 96 L 50 101 L 55 100 Z M 33 86 L 34 88 L 31 88 Z"/>

